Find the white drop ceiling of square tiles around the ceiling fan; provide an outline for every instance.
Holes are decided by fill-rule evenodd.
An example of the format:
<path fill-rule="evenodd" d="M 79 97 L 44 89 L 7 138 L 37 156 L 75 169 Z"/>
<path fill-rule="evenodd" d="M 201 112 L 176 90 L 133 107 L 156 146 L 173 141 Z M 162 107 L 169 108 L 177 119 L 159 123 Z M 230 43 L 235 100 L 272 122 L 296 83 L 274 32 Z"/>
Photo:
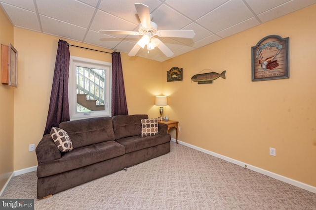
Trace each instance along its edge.
<path fill-rule="evenodd" d="M 158 37 L 176 57 L 315 4 L 316 0 L 0 0 L 14 27 L 127 54 L 139 36 L 97 31 L 138 31 L 140 21 L 134 3 L 149 6 L 158 30 L 195 31 L 193 39 Z M 172 58 L 158 48 L 141 49 L 136 56 L 158 61 Z"/>

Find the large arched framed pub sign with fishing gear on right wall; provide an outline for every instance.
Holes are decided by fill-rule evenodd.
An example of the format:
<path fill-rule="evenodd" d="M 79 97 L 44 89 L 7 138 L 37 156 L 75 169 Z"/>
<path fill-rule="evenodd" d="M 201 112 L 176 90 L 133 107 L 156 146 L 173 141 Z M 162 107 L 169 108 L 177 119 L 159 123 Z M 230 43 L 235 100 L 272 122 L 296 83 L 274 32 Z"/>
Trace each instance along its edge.
<path fill-rule="evenodd" d="M 289 37 L 270 35 L 251 47 L 251 80 L 289 78 Z"/>

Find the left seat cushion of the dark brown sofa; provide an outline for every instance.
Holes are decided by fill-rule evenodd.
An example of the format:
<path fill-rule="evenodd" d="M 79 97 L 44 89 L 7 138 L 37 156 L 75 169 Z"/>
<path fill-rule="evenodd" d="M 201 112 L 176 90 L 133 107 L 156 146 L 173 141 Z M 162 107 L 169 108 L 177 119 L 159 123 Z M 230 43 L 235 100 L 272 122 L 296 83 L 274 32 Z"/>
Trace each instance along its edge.
<path fill-rule="evenodd" d="M 63 153 L 62 157 L 58 160 L 39 164 L 37 176 L 40 178 L 59 174 L 82 166 L 118 157 L 124 153 L 124 146 L 115 141 L 106 141 L 89 145 L 72 150 L 71 152 Z"/>

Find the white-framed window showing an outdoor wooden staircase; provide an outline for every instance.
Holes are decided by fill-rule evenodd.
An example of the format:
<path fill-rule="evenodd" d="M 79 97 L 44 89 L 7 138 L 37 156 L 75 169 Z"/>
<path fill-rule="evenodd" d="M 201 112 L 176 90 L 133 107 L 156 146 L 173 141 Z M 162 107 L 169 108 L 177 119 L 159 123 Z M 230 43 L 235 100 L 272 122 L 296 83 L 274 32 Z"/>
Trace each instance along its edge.
<path fill-rule="evenodd" d="M 71 56 L 70 120 L 111 116 L 112 63 Z"/>

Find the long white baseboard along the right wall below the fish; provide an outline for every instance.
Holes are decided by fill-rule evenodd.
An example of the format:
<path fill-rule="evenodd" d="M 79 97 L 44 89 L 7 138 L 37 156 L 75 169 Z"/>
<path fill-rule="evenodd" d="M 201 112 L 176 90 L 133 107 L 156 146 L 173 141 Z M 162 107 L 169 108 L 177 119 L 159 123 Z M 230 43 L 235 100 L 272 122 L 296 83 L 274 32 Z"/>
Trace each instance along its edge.
<path fill-rule="evenodd" d="M 171 138 L 171 141 L 175 142 L 176 140 Z M 240 162 L 238 160 L 235 160 L 235 159 L 232 159 L 230 157 L 226 157 L 224 155 L 221 155 L 221 154 L 218 154 L 218 153 L 215 153 L 215 152 L 212 152 L 212 151 L 209 151 L 209 150 L 205 150 L 205 149 L 202 149 L 202 148 L 199 148 L 199 147 L 196 147 L 194 145 L 191 145 L 191 144 L 188 144 L 188 143 L 185 143 L 185 142 L 181 142 L 178 140 L 178 143 L 181 144 L 181 145 L 184 145 L 186 147 L 189 147 L 189 148 L 192 148 L 194 150 L 198 150 L 198 151 L 201 151 L 201 152 L 204 152 L 206 154 L 210 154 L 214 157 L 218 157 L 220 159 L 223 159 L 223 160 L 226 160 L 228 162 L 231 162 L 231 163 L 234 163 L 238 166 L 241 166 L 241 167 L 247 167 L 247 169 L 250 169 L 252 171 L 255 171 L 255 172 L 258 172 L 260 174 L 263 174 L 263 175 L 266 175 L 268 177 L 272 177 L 276 180 L 280 180 L 280 181 L 283 181 L 285 183 L 288 183 L 288 184 L 291 184 L 293 186 L 297 186 L 297 187 L 300 187 L 302 189 L 305 189 L 307 191 L 310 191 L 310 192 L 313 192 L 313 193 L 316 193 L 316 187 L 314 186 L 311 186 L 311 185 L 308 185 L 308 184 L 305 184 L 303 182 L 300 182 L 300 181 L 297 181 L 297 180 L 292 180 L 290 178 L 287 178 L 287 177 L 283 177 L 281 175 L 278 175 L 278 174 L 275 174 L 273 172 L 270 172 L 270 171 L 267 171 L 267 170 L 264 170 L 264 169 L 261 169 L 261 168 L 258 168 L 256 166 L 252 166 L 252 165 L 249 165 L 247 163 L 243 163 L 243 162 Z"/>

